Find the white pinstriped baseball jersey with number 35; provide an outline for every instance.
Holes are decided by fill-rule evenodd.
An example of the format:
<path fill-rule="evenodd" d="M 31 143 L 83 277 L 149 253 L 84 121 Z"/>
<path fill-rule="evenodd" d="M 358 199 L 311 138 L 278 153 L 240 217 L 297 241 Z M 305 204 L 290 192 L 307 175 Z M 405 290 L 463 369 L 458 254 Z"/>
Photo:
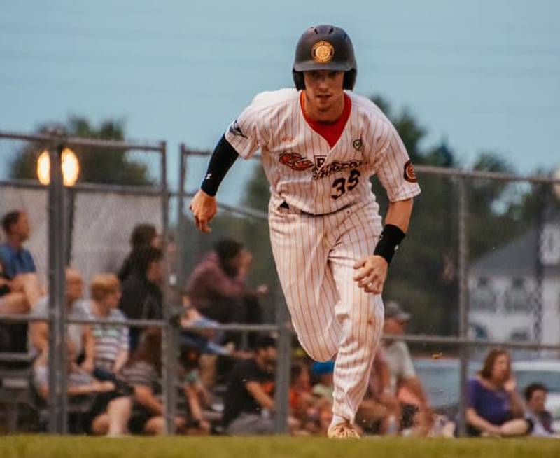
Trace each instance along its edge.
<path fill-rule="evenodd" d="M 356 202 L 375 202 L 377 174 L 391 202 L 420 193 L 405 146 L 384 113 L 348 92 L 351 113 L 334 147 L 305 120 L 300 92 L 258 94 L 225 138 L 243 158 L 262 153 L 272 204 L 286 201 L 309 214 L 329 214 Z M 377 203 L 376 203 L 377 205 Z M 379 231 L 381 218 L 379 218 Z"/>

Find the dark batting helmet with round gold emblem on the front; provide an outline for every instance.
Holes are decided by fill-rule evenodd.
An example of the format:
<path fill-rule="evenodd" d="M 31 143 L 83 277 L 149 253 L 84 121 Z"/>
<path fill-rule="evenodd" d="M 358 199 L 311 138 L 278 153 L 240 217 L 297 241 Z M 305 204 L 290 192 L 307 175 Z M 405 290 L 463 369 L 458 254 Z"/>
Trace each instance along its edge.
<path fill-rule="evenodd" d="M 344 89 L 353 89 L 358 67 L 352 41 L 343 29 L 317 25 L 303 32 L 292 69 L 297 90 L 305 89 L 303 72 L 311 70 L 344 71 Z"/>

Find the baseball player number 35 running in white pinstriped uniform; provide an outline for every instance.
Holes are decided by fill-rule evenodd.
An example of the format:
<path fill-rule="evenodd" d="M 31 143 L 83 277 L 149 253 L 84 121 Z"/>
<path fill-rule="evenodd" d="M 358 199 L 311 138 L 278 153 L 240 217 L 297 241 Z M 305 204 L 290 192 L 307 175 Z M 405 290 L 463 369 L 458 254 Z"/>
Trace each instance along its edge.
<path fill-rule="evenodd" d="M 343 29 L 307 29 L 295 50 L 295 89 L 253 99 L 218 142 L 190 203 L 197 228 L 209 232 L 226 172 L 260 149 L 272 251 L 293 326 L 311 358 L 335 358 L 331 438 L 359 438 L 354 416 L 383 327 L 381 292 L 420 193 L 393 125 L 349 92 L 356 69 Z M 384 226 L 374 174 L 390 202 Z"/>

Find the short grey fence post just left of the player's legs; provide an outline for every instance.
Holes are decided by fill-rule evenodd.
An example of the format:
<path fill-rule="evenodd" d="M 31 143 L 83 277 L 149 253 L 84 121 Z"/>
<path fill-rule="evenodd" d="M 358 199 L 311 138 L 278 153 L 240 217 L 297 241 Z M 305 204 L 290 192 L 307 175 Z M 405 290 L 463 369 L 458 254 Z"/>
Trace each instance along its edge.
<path fill-rule="evenodd" d="M 276 298 L 278 295 L 276 294 Z M 290 331 L 290 317 L 288 309 L 283 303 L 278 307 L 276 303 L 276 324 L 279 329 L 278 356 L 276 359 L 276 389 L 274 390 L 274 433 L 288 433 L 288 403 L 290 389 L 290 366 L 292 333 Z"/>

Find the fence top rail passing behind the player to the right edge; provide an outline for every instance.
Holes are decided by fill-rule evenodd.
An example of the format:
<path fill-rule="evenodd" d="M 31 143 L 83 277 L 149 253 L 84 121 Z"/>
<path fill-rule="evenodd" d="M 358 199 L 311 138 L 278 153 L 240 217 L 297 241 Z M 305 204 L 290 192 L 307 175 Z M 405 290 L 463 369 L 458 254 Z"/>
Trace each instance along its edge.
<path fill-rule="evenodd" d="M 183 151 L 183 154 L 193 156 L 209 156 L 212 153 L 210 150 L 191 150 L 186 148 L 184 144 L 181 145 L 181 151 Z M 260 159 L 260 155 L 255 154 L 251 156 L 251 158 Z M 479 178 L 500 181 L 529 181 L 531 183 L 560 184 L 560 178 L 555 179 L 549 176 L 516 175 L 500 172 L 485 172 L 484 170 L 452 169 L 447 167 L 435 167 L 433 165 L 414 165 L 414 169 L 416 169 L 416 172 L 428 175 L 449 175 L 473 179 Z"/>

